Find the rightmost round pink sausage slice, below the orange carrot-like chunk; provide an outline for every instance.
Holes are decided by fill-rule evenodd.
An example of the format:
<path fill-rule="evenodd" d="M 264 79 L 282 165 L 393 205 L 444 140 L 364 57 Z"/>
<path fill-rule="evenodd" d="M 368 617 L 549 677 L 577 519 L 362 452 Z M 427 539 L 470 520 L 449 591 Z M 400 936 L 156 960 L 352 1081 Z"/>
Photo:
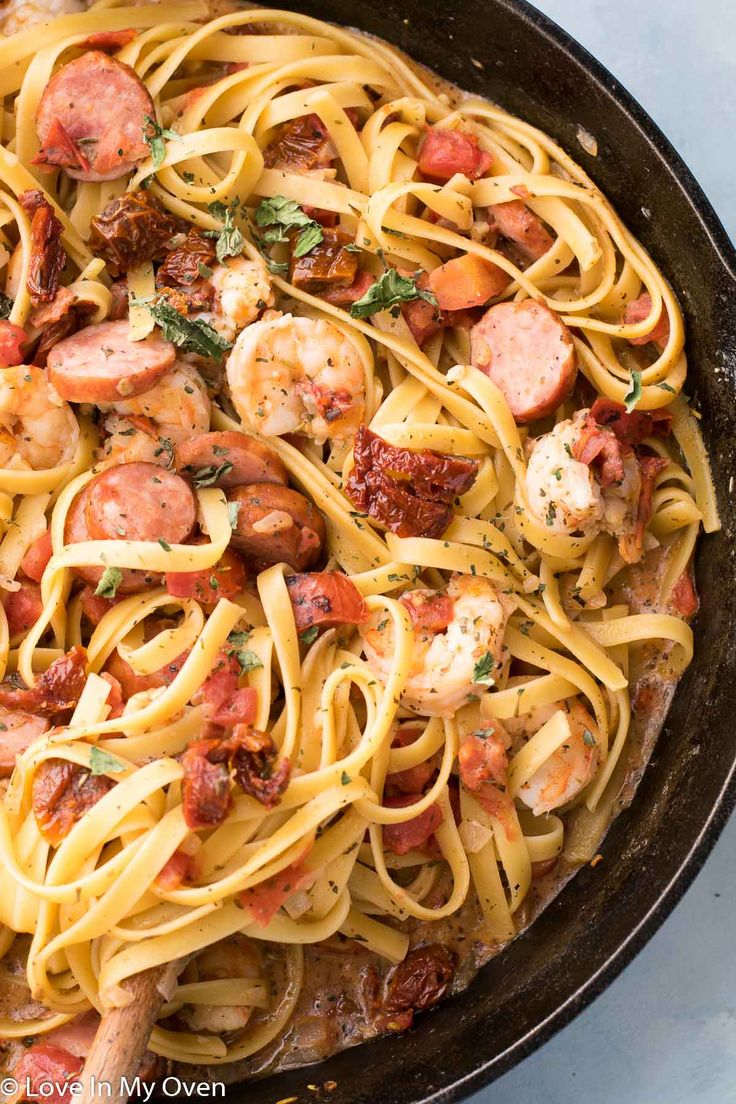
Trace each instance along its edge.
<path fill-rule="evenodd" d="M 516 422 L 552 414 L 577 375 L 569 330 L 534 299 L 490 307 L 470 331 L 470 361 L 503 392 Z"/>

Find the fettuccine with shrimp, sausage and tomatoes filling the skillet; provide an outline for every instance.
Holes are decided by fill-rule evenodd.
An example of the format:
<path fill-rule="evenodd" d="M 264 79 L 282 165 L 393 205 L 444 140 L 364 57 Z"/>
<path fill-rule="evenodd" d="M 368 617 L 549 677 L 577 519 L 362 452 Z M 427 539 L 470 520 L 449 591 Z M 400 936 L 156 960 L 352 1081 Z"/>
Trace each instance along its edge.
<path fill-rule="evenodd" d="M 85 59 L 152 105 L 117 150 L 54 98 Z M 402 964 L 435 999 L 433 925 L 532 919 L 692 658 L 676 298 L 552 138 L 306 15 L 103 0 L 0 74 L 0 1037 L 179 960 L 154 1055 L 307 1061 L 351 954 L 353 1038 L 406 1027 Z"/>

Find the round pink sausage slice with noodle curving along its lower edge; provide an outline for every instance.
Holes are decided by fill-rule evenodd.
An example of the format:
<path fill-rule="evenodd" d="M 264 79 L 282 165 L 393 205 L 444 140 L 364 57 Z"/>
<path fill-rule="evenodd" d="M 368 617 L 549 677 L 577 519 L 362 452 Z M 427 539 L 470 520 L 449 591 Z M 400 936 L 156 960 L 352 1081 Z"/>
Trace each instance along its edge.
<path fill-rule="evenodd" d="M 191 487 L 157 464 L 118 464 L 96 476 L 87 491 L 85 520 L 95 541 L 180 544 L 194 529 Z"/>

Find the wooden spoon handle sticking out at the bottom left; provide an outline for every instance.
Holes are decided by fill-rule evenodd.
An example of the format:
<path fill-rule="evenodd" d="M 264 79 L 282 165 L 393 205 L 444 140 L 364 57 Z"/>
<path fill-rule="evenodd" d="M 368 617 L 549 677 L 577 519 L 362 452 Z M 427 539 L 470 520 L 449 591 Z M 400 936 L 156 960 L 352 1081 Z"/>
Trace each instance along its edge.
<path fill-rule="evenodd" d="M 156 1023 L 163 994 L 181 969 L 181 963 L 168 963 L 136 974 L 125 985 L 132 1000 L 125 1008 L 106 1012 L 97 1028 L 84 1069 L 79 1074 L 82 1093 L 75 1104 L 99 1104 L 99 1083 L 110 1085 L 104 1091 L 105 1104 L 125 1104 L 128 1098 L 124 1079 L 130 1084 L 138 1073 Z"/>

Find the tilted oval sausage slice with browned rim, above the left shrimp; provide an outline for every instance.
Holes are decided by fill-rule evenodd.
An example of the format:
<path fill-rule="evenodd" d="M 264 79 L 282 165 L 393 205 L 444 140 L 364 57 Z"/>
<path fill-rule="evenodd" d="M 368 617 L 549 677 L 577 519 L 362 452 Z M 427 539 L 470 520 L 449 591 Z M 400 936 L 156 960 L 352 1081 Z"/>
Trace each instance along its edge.
<path fill-rule="evenodd" d="M 49 378 L 70 403 L 116 403 L 142 395 L 177 358 L 158 331 L 131 341 L 128 322 L 87 326 L 55 344 L 46 360 Z"/>

